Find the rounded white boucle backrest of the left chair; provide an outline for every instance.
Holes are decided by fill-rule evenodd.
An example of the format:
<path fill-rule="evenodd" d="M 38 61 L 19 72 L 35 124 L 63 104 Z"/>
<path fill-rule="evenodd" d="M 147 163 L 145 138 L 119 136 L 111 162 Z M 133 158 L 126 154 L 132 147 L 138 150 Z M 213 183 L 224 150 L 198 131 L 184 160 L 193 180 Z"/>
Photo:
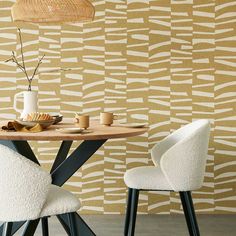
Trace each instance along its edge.
<path fill-rule="evenodd" d="M 37 219 L 51 176 L 37 164 L 0 145 L 0 221 Z"/>

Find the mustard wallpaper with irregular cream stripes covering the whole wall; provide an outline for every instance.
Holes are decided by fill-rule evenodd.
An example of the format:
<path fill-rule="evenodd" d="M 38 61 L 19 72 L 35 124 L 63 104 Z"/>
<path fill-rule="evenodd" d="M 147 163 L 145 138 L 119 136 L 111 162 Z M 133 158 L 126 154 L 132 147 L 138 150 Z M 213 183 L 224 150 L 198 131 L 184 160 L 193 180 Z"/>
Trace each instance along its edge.
<path fill-rule="evenodd" d="M 181 125 L 212 122 L 204 186 L 194 192 L 198 212 L 236 212 L 236 2 L 233 0 L 93 0 L 92 23 L 11 22 L 13 0 L 0 1 L 0 119 L 15 118 L 13 96 L 25 78 L 6 65 L 24 38 L 27 65 L 44 53 L 34 82 L 40 109 L 72 117 L 101 109 L 123 121 L 148 122 L 149 133 L 109 141 L 67 183 L 83 200 L 83 213 L 124 212 L 126 169 L 151 165 L 149 151 Z M 49 168 L 57 142 L 33 143 Z M 181 212 L 178 194 L 144 192 L 141 213 Z"/>

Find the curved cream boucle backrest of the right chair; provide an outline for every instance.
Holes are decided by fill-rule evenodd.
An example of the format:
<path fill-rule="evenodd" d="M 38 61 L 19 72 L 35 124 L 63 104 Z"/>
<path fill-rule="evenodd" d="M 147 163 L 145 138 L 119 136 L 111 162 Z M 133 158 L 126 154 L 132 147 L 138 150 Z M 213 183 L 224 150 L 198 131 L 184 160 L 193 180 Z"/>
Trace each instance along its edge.
<path fill-rule="evenodd" d="M 210 122 L 197 120 L 165 138 L 154 153 L 161 152 L 161 157 L 153 157 L 158 163 L 175 191 L 191 191 L 203 184 Z"/>

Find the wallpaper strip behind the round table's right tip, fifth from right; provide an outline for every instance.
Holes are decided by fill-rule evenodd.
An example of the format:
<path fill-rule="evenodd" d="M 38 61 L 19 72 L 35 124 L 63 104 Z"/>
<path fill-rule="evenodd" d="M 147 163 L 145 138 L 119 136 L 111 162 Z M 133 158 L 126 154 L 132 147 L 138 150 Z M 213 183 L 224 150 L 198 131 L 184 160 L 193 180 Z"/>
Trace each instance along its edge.
<path fill-rule="evenodd" d="M 149 1 L 127 1 L 127 121 L 148 123 Z M 127 142 L 127 168 L 148 164 L 147 135 Z M 148 193 L 141 192 L 139 212 L 148 208 Z"/>

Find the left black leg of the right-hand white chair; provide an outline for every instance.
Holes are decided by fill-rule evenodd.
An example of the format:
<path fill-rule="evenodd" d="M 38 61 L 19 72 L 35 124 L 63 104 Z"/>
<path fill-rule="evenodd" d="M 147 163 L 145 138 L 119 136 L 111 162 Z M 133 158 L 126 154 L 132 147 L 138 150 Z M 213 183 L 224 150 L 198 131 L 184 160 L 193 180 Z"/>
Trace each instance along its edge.
<path fill-rule="evenodd" d="M 135 232 L 135 223 L 138 209 L 138 197 L 139 197 L 139 190 L 132 189 L 130 224 L 129 224 L 129 234 L 128 234 L 129 236 L 134 236 Z"/>

